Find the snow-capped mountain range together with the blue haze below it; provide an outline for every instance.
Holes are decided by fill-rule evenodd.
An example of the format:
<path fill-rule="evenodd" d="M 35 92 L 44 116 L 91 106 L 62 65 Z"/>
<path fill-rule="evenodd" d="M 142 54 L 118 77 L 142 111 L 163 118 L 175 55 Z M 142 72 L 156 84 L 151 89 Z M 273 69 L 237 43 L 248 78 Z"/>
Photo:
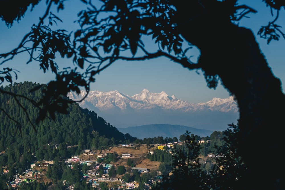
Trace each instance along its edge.
<path fill-rule="evenodd" d="M 86 91 L 69 93 L 68 97 L 79 101 Z M 79 102 L 80 107 L 95 111 L 106 122 L 117 128 L 167 123 L 198 129 L 223 131 L 227 124 L 238 119 L 237 103 L 233 97 L 213 98 L 205 103 L 189 103 L 164 91 L 152 93 L 147 89 L 133 96 L 118 91 L 90 91 Z"/>

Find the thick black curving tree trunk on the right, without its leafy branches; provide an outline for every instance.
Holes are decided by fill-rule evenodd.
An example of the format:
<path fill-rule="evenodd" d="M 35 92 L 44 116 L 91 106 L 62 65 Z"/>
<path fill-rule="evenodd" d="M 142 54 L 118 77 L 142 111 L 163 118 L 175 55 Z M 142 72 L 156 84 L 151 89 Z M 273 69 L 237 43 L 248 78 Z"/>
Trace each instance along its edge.
<path fill-rule="evenodd" d="M 205 75 L 218 75 L 237 100 L 238 154 L 248 167 L 245 189 L 284 189 L 284 164 L 278 159 L 285 107 L 280 80 L 268 67 L 251 30 L 229 22 L 218 24 L 194 27 L 191 23 L 195 30 L 182 29 L 181 34 L 200 49 Z"/>

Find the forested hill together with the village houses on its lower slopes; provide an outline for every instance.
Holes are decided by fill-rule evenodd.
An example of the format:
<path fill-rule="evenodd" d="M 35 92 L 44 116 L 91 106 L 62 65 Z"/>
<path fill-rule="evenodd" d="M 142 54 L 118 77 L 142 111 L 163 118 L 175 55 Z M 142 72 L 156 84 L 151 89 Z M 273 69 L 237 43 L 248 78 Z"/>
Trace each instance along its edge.
<path fill-rule="evenodd" d="M 15 83 L 5 90 L 39 98 L 38 93 L 27 94 L 37 85 Z M 176 136 L 139 139 L 124 134 L 78 104 L 71 105 L 69 115 L 48 118 L 34 130 L 15 99 L 2 94 L 1 101 L 15 117 L 23 119 L 23 126 L 20 133 L 13 120 L 0 114 L 0 189 L 148 189 L 154 181 L 160 181 L 161 174 L 171 171 L 171 150 L 180 144 Z M 31 119 L 36 120 L 34 106 L 24 103 L 30 108 Z M 185 135 L 179 136 L 179 141 L 184 142 L 183 138 Z M 223 134 L 215 131 L 202 138 L 212 141 L 200 142 L 205 144 L 200 153 L 205 157 L 201 158 L 203 169 L 207 170 L 211 160 L 206 155 L 216 145 L 223 145 Z"/>

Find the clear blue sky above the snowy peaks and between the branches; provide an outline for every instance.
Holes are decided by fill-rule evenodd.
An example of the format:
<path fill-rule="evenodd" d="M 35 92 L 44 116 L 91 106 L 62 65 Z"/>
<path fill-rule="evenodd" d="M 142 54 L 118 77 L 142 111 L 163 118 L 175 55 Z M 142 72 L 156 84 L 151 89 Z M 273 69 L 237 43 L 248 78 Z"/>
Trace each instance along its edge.
<path fill-rule="evenodd" d="M 75 30 L 77 25 L 73 23 L 76 20 L 77 13 L 84 9 L 84 5 L 79 0 L 71 0 L 65 2 L 65 10 L 58 14 L 63 23 L 58 23 L 62 28 L 67 28 L 70 32 Z M 30 31 L 33 23 L 38 23 L 38 18 L 43 15 L 45 1 L 37 5 L 33 12 L 26 13 L 25 17 L 19 22 L 14 23 L 11 28 L 7 28 L 4 22 L 0 21 L 0 52 L 8 52 L 15 48 L 23 36 Z M 240 21 L 240 26 L 251 28 L 257 36 L 257 32 L 261 25 L 266 25 L 272 20 L 270 9 L 266 7 L 261 0 L 239 1 L 239 4 L 247 4 L 255 8 L 258 13 L 251 13 L 251 18 L 244 18 Z M 56 11 L 53 11 L 56 14 Z M 278 23 L 284 25 L 284 11 L 280 15 Z M 284 28 L 281 28 L 285 31 Z M 257 36 L 257 41 L 260 48 L 268 60 L 269 66 L 272 68 L 274 75 L 285 81 L 285 40 L 280 38 L 280 41 L 272 41 L 269 45 L 266 40 L 260 39 Z M 198 56 L 198 54 L 197 54 Z M 39 70 L 38 62 L 31 62 L 26 65 L 28 60 L 27 55 L 16 56 L 12 61 L 1 65 L 3 67 L 16 68 L 19 79 L 14 82 L 33 81 L 38 83 L 48 83 L 54 79 L 51 72 L 43 74 Z M 219 60 L 213 60 L 213 62 Z M 64 59 L 58 62 L 59 67 L 73 66 L 71 59 Z M 230 67 L 229 63 L 229 67 Z M 233 69 L 234 72 L 234 69 Z M 197 73 L 200 73 L 197 74 Z M 169 96 L 175 95 L 177 98 L 188 102 L 199 103 L 211 100 L 213 97 L 227 98 L 229 93 L 219 85 L 216 90 L 209 89 L 206 86 L 205 79 L 200 70 L 197 72 L 189 71 L 177 63 L 171 62 L 167 58 L 157 58 L 153 60 L 141 62 L 115 62 L 112 66 L 104 70 L 100 75 L 97 75 L 96 82 L 91 85 L 91 90 L 113 91 L 117 90 L 127 95 L 140 93 L 144 88 L 150 92 L 160 93 L 165 91 Z M 7 85 L 7 83 L 5 83 Z M 282 83 L 284 89 L 284 84 Z"/>

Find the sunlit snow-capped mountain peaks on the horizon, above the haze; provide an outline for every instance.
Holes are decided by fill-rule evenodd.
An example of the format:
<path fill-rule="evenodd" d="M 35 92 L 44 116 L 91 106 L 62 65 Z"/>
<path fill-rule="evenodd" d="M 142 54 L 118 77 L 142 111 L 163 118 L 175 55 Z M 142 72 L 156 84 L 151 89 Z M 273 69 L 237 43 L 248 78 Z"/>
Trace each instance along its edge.
<path fill-rule="evenodd" d="M 79 101 L 86 96 L 86 91 L 77 93 L 69 93 L 68 96 Z M 238 112 L 237 103 L 233 97 L 220 99 L 213 98 L 205 103 L 189 103 L 176 98 L 174 95 L 168 96 L 164 91 L 161 93 L 152 93 L 147 89 L 133 96 L 119 93 L 118 91 L 100 92 L 89 91 L 87 97 L 79 102 L 83 108 L 96 111 L 139 111 L 139 110 L 164 110 L 179 112 L 195 112 L 195 111 L 217 111 L 217 112 Z M 95 111 L 94 110 L 94 111 Z"/>

